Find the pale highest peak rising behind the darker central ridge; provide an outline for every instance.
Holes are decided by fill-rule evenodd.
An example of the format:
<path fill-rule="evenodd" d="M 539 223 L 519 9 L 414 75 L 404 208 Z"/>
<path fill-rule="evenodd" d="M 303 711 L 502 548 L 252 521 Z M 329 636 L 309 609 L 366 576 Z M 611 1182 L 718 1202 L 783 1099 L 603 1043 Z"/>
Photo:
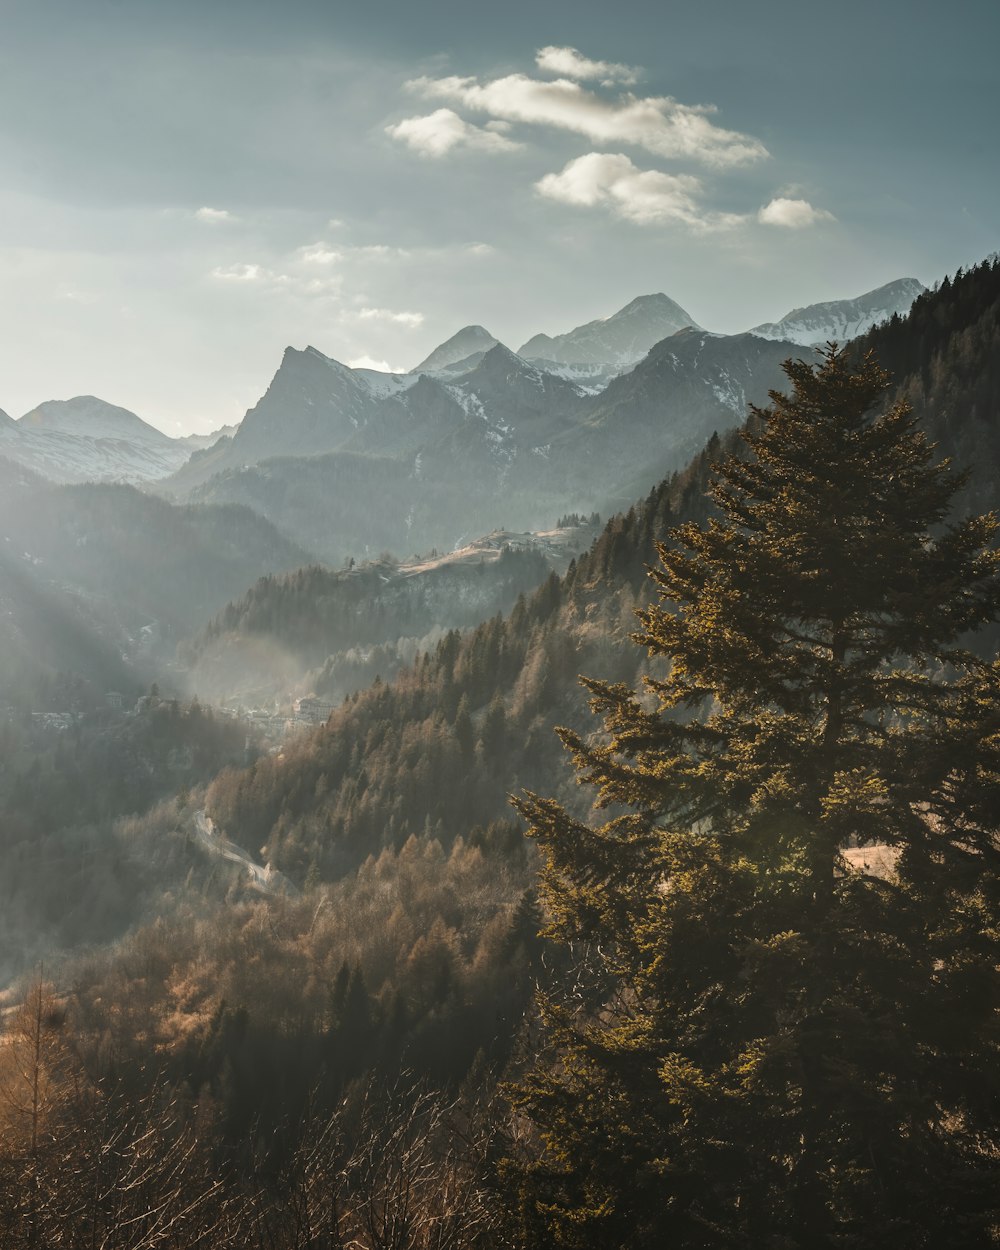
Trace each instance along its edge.
<path fill-rule="evenodd" d="M 640 295 L 612 316 L 588 321 L 568 334 L 536 334 L 518 355 L 566 365 L 638 364 L 654 345 L 678 330 L 700 329 L 690 314 L 666 295 Z"/>

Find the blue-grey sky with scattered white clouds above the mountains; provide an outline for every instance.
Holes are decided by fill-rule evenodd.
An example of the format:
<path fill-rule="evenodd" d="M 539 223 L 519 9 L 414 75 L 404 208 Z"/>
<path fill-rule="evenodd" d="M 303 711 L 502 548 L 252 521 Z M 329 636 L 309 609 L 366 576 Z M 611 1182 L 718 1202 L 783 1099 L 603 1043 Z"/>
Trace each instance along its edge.
<path fill-rule="evenodd" d="M 1000 248 L 996 0 L 0 0 L 0 409 L 240 420 L 664 291 L 739 332 Z"/>

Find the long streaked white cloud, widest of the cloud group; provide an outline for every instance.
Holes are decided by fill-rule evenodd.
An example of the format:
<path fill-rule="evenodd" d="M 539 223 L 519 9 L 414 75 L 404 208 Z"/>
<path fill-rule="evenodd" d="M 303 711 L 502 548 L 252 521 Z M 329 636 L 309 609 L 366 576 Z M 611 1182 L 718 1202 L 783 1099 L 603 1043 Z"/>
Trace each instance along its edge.
<path fill-rule="evenodd" d="M 565 78 L 542 82 L 525 74 L 509 74 L 485 84 L 472 78 L 419 78 L 406 85 L 428 99 L 461 104 L 501 121 L 555 126 L 584 135 L 592 142 L 632 144 L 658 156 L 682 156 L 714 168 L 746 165 L 768 155 L 759 140 L 716 126 L 709 119 L 709 114 L 715 111 L 711 106 L 685 105 L 670 96 L 625 94 L 609 100 Z M 448 109 L 431 114 L 431 118 L 442 114 L 454 118 L 459 126 L 465 125 Z M 389 128 L 390 134 L 405 138 L 400 134 L 401 128 L 429 120 L 411 118 Z M 444 121 L 441 129 L 442 132 L 446 129 Z M 502 136 L 494 135 L 494 139 Z M 444 139 L 438 142 L 444 142 Z"/>

